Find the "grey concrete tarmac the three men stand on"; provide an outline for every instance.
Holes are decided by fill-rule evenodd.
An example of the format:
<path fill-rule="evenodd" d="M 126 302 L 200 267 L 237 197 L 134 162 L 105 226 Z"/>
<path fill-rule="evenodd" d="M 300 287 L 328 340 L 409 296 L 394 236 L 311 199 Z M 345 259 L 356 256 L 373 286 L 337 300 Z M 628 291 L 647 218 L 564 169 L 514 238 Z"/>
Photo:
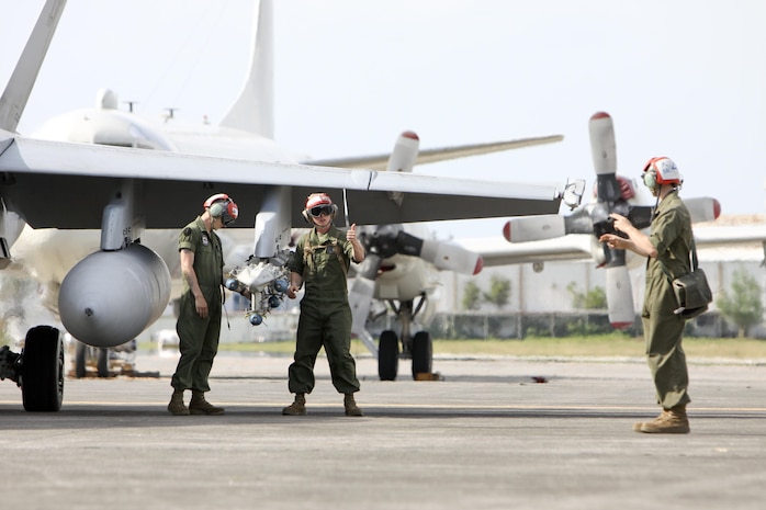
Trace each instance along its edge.
<path fill-rule="evenodd" d="M 1 508 L 763 509 L 766 365 L 690 360 L 691 433 L 632 431 L 658 412 L 642 359 L 437 359 L 442 381 L 380 382 L 358 359 L 365 416 L 317 361 L 308 416 L 283 417 L 289 358 L 216 359 L 221 417 L 170 416 L 159 376 L 67 378 L 57 413 L 0 384 Z"/>

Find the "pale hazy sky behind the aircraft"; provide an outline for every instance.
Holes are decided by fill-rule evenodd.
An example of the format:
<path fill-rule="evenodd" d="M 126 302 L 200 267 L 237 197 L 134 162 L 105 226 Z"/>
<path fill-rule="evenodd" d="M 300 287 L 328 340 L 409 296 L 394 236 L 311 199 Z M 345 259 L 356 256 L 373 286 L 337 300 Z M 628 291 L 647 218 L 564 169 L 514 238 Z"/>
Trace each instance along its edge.
<path fill-rule="evenodd" d="M 0 0 L 5 82 L 43 0 Z M 764 213 L 761 0 L 277 0 L 277 141 L 317 158 L 562 134 L 547 147 L 419 167 L 504 181 L 594 183 L 587 121 L 615 118 L 618 173 L 673 158 L 683 196 Z M 69 0 L 19 126 L 114 89 L 137 110 L 217 122 L 240 89 L 252 0 Z M 244 202 L 246 197 L 237 197 Z M 353 212 L 351 212 L 353 214 Z M 504 219 L 442 224 L 499 235 Z"/>

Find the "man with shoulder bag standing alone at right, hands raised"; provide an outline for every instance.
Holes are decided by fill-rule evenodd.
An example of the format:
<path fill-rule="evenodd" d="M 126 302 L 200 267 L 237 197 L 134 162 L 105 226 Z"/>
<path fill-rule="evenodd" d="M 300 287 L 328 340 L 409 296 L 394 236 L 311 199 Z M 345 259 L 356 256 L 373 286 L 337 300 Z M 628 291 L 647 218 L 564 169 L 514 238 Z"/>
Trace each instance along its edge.
<path fill-rule="evenodd" d="M 681 347 L 685 319 L 674 313 L 678 303 L 672 281 L 691 272 L 691 217 L 678 196 L 684 180 L 669 158 L 650 159 L 644 166 L 643 182 L 657 197 L 651 234 L 643 234 L 624 216 L 611 214 L 615 229 L 628 238 L 605 234 L 599 240 L 610 248 L 629 249 L 646 257 L 646 293 L 641 320 L 657 404 L 663 410 L 652 421 L 635 423 L 633 430 L 686 434 L 690 430 L 686 405 L 691 399 L 687 392 L 689 374 Z"/>

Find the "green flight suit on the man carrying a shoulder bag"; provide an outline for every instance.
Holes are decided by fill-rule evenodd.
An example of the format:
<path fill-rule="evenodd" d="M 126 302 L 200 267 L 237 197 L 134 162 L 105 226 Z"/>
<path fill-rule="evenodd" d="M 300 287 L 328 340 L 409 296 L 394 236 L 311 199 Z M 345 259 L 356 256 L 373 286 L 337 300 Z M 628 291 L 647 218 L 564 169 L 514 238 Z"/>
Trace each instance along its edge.
<path fill-rule="evenodd" d="M 660 201 L 651 229 L 650 240 L 657 257 L 650 257 L 646 261 L 646 293 L 641 320 L 657 404 L 669 409 L 691 401 L 687 393 L 686 354 L 681 347 L 685 320 L 673 313 L 678 303 L 671 284 L 672 279 L 691 271 L 691 218 L 677 191 Z"/>

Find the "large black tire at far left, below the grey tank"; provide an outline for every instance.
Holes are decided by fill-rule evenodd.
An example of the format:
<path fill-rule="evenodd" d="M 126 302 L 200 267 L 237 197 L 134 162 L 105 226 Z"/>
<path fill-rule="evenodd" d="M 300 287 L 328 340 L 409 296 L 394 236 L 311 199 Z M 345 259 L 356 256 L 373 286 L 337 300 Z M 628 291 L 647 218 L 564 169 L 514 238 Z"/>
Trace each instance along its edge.
<path fill-rule="evenodd" d="M 37 326 L 26 332 L 22 351 L 21 395 L 27 411 L 58 411 L 64 400 L 64 341 L 58 329 Z"/>

